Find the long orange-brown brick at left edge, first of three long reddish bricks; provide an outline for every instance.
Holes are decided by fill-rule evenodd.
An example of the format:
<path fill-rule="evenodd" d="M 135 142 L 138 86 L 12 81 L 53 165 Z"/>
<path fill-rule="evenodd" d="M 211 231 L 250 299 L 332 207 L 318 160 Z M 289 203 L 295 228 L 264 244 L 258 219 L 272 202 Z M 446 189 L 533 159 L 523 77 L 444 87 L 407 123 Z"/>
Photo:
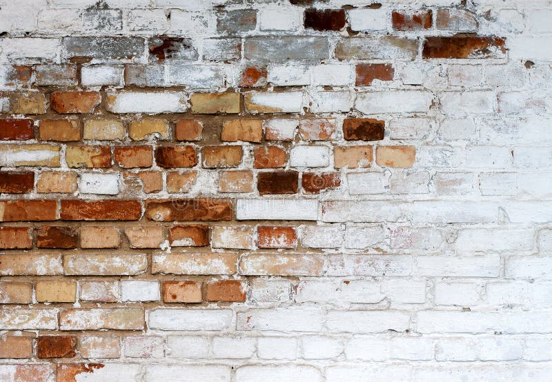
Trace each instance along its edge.
<path fill-rule="evenodd" d="M 0 201 L 0 221 L 57 220 L 55 200 Z"/>

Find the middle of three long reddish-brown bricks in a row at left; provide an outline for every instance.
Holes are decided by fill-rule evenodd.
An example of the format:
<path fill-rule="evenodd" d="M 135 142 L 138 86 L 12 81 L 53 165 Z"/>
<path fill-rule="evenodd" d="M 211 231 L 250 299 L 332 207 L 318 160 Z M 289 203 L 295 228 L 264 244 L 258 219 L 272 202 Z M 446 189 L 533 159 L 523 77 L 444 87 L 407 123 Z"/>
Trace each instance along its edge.
<path fill-rule="evenodd" d="M 135 200 L 62 200 L 63 220 L 138 220 L 141 204 Z"/>

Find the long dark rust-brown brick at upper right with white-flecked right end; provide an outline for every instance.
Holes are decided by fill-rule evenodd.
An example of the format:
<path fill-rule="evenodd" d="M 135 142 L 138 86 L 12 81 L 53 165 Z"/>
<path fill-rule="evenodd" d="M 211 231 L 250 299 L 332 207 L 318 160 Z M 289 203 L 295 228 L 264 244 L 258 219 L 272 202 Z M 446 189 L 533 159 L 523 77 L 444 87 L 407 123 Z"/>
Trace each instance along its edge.
<path fill-rule="evenodd" d="M 504 39 L 498 37 L 427 37 L 424 41 L 424 59 L 486 59 L 504 53 Z"/>

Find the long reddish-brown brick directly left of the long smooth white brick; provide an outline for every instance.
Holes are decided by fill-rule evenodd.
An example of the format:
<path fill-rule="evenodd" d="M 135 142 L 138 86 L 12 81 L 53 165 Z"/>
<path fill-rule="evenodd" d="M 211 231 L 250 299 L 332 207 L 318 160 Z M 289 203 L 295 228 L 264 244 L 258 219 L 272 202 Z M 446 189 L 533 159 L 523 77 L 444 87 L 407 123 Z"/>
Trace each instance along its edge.
<path fill-rule="evenodd" d="M 146 218 L 152 221 L 230 220 L 232 205 L 228 199 L 148 200 Z"/>

